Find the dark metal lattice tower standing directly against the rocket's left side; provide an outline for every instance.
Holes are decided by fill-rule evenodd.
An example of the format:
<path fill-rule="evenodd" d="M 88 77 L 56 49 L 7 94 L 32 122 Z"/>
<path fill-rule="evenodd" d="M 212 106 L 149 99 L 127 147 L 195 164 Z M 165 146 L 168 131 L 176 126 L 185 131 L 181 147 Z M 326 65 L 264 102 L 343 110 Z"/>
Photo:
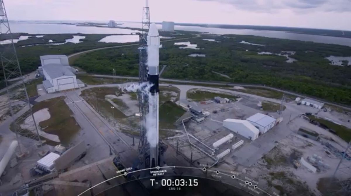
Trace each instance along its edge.
<path fill-rule="evenodd" d="M 140 33 L 139 41 L 139 84 L 148 81 L 147 69 L 147 30 L 150 28 L 150 8 L 148 7 L 148 0 L 146 6 L 143 8 L 142 31 Z M 146 139 L 146 114 L 148 113 L 148 97 L 138 92 L 139 100 L 139 115 L 140 115 L 140 141 L 139 141 L 139 159 L 144 168 L 150 168 L 150 149 Z"/>

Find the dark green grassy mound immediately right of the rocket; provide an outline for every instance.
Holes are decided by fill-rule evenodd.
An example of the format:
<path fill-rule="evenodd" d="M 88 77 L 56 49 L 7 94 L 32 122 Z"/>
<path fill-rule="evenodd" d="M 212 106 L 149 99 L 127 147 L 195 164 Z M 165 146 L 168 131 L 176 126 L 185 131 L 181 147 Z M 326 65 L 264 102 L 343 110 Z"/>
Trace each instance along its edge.
<path fill-rule="evenodd" d="M 185 111 L 177 104 L 167 101 L 160 105 L 160 128 L 174 129 L 173 125 L 178 118 L 180 118 Z"/>

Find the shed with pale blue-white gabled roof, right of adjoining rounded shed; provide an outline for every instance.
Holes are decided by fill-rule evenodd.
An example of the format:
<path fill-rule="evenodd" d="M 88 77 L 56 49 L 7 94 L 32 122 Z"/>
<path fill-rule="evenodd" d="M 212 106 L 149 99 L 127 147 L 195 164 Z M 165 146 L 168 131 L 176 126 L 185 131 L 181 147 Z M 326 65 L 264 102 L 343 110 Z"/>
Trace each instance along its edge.
<path fill-rule="evenodd" d="M 276 125 L 275 118 L 261 113 L 256 113 L 255 115 L 246 118 L 246 120 L 249 121 L 258 130 L 260 130 L 262 134 L 272 129 L 273 126 Z"/>

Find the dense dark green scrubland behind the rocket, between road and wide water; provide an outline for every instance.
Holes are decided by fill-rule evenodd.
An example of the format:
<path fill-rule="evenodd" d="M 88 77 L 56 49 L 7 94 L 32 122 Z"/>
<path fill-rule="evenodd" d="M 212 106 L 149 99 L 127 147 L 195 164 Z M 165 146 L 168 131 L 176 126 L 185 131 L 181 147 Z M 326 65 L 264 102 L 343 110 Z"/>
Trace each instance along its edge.
<path fill-rule="evenodd" d="M 202 40 L 213 38 L 221 43 Z M 201 53 L 206 57 L 188 57 L 196 51 L 179 49 L 179 46 L 173 45 L 174 41 L 164 42 L 163 50 L 160 50 L 160 64 L 167 67 L 162 77 L 260 84 L 351 104 L 351 67 L 329 65 L 329 60 L 324 59 L 329 55 L 351 56 L 351 47 L 250 35 L 201 35 L 188 40 L 204 48 Z M 241 40 L 265 45 L 240 44 Z M 305 53 L 308 50 L 314 52 Z M 262 51 L 296 51 L 291 57 L 298 61 L 287 63 L 284 57 L 257 54 Z M 87 72 L 110 74 L 112 68 L 116 68 L 118 75 L 137 76 L 138 58 L 137 46 L 131 46 L 88 53 L 77 59 L 75 65 Z M 231 79 L 212 71 L 226 74 Z"/>

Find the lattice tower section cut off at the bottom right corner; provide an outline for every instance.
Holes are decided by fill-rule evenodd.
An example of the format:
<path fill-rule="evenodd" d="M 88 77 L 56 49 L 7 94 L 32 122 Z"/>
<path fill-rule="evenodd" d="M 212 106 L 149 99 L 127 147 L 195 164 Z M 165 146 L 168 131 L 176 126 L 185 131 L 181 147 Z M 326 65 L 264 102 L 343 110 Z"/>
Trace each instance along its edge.
<path fill-rule="evenodd" d="M 340 162 L 330 182 L 329 195 L 351 195 L 351 141 L 341 153 Z"/>

